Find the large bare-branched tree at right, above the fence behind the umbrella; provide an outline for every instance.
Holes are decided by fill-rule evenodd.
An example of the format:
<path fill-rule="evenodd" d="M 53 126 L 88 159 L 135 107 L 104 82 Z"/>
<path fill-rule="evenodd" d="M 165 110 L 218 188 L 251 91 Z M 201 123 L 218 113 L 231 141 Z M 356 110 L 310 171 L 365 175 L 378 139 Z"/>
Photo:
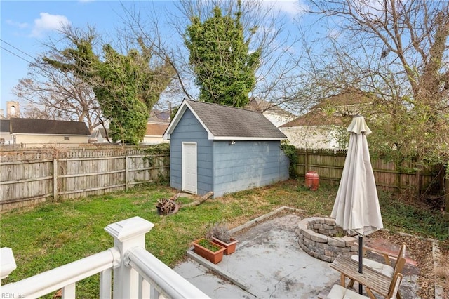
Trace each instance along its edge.
<path fill-rule="evenodd" d="M 447 163 L 449 2 L 311 3 L 309 13 L 329 26 L 324 51 L 313 53 L 316 44 L 308 45 L 316 91 L 326 95 L 353 86 L 376 95 L 366 113 L 373 116 L 377 149 L 422 164 Z"/>

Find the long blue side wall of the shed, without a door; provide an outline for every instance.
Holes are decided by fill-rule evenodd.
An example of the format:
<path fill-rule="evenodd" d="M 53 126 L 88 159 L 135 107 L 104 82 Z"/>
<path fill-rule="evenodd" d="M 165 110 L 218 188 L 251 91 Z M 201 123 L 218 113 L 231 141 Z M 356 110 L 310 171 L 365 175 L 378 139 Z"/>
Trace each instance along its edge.
<path fill-rule="evenodd" d="M 288 178 L 287 168 L 280 167 L 280 141 L 228 141 L 213 143 L 214 196 L 272 184 Z"/>

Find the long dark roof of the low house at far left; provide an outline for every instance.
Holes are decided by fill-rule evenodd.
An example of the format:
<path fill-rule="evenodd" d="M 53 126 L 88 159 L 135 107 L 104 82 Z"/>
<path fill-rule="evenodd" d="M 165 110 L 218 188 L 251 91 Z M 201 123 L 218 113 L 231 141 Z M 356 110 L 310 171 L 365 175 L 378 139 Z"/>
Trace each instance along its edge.
<path fill-rule="evenodd" d="M 53 119 L 11 118 L 11 133 L 91 135 L 82 121 L 55 121 Z"/>

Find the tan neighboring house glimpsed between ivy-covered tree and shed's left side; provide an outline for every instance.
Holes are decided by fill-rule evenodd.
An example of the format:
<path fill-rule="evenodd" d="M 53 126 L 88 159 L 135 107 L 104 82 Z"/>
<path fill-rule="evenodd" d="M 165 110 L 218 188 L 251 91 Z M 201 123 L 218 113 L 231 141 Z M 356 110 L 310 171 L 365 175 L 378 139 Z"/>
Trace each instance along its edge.
<path fill-rule="evenodd" d="M 144 145 L 155 145 L 158 143 L 168 142 L 163 139 L 163 133 L 170 124 L 170 112 L 152 109 L 147 122 L 147 131 L 142 140 Z"/>

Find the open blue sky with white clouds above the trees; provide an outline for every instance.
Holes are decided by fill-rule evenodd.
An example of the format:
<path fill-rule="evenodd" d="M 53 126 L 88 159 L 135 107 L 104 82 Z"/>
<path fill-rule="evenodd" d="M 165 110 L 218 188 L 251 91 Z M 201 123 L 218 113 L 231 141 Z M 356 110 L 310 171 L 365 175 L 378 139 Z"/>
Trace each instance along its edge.
<path fill-rule="evenodd" d="M 173 0 L 175 1 L 175 0 Z M 172 0 L 142 1 L 161 8 L 175 9 Z M 293 18 L 299 13 L 297 0 L 273 0 L 279 11 Z M 267 1 L 267 4 L 273 4 Z M 0 0 L 0 109 L 6 101 L 15 100 L 11 88 L 27 76 L 29 62 L 45 51 L 43 42 L 58 36 L 61 25 L 86 28 L 94 26 L 97 32 L 114 36 L 121 25 L 122 4 L 132 1 L 5 1 Z"/>

